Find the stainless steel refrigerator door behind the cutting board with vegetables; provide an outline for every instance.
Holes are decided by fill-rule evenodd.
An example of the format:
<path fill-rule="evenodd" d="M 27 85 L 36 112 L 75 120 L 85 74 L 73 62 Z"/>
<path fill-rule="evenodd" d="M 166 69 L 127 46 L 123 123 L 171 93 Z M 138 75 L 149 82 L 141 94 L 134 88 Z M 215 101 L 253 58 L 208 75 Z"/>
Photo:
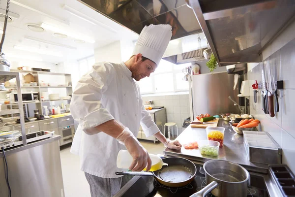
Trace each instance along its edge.
<path fill-rule="evenodd" d="M 239 113 L 237 106 L 229 99 L 231 96 L 238 102 L 238 89 L 233 89 L 233 74 L 219 72 L 192 75 L 190 95 L 193 117 L 205 113 L 211 116 L 221 113 Z"/>

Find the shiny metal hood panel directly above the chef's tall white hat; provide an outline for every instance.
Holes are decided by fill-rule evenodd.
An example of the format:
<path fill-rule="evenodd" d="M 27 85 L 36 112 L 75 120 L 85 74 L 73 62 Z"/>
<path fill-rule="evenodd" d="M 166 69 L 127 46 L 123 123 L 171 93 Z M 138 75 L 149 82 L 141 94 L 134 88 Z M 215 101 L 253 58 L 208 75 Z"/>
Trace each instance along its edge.
<path fill-rule="evenodd" d="M 79 1 L 138 34 L 149 24 L 170 24 L 172 39 L 202 32 L 185 0 Z"/>

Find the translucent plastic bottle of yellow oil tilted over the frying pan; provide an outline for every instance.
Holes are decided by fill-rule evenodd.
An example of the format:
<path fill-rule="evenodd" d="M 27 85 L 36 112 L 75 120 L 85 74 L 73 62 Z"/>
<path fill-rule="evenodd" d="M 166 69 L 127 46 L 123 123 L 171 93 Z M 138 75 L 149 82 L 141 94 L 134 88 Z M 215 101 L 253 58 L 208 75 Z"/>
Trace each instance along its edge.
<path fill-rule="evenodd" d="M 151 168 L 149 171 L 156 171 L 158 169 L 161 169 L 163 165 L 168 165 L 163 163 L 160 157 L 153 154 L 148 155 L 151 159 Z M 132 156 L 128 151 L 120 150 L 117 156 L 117 167 L 122 169 L 128 169 L 128 167 L 132 163 L 132 160 Z M 143 170 L 146 170 L 146 168 Z"/>

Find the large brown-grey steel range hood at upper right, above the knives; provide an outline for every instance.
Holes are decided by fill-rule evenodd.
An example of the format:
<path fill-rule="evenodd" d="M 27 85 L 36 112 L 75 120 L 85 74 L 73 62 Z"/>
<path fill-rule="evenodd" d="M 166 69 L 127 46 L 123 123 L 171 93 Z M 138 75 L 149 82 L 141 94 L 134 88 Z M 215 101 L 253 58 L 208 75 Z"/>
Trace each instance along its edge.
<path fill-rule="evenodd" d="M 186 0 L 219 66 L 260 62 L 295 19 L 295 0 Z"/>

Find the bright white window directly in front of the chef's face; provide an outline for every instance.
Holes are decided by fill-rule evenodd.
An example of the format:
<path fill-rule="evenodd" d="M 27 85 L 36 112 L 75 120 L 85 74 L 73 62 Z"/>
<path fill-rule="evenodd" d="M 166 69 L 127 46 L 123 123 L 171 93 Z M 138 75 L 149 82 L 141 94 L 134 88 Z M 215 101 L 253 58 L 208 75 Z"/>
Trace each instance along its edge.
<path fill-rule="evenodd" d="M 188 82 L 184 81 L 182 69 L 191 63 L 175 65 L 161 60 L 155 72 L 138 83 L 142 94 L 188 91 Z"/>

